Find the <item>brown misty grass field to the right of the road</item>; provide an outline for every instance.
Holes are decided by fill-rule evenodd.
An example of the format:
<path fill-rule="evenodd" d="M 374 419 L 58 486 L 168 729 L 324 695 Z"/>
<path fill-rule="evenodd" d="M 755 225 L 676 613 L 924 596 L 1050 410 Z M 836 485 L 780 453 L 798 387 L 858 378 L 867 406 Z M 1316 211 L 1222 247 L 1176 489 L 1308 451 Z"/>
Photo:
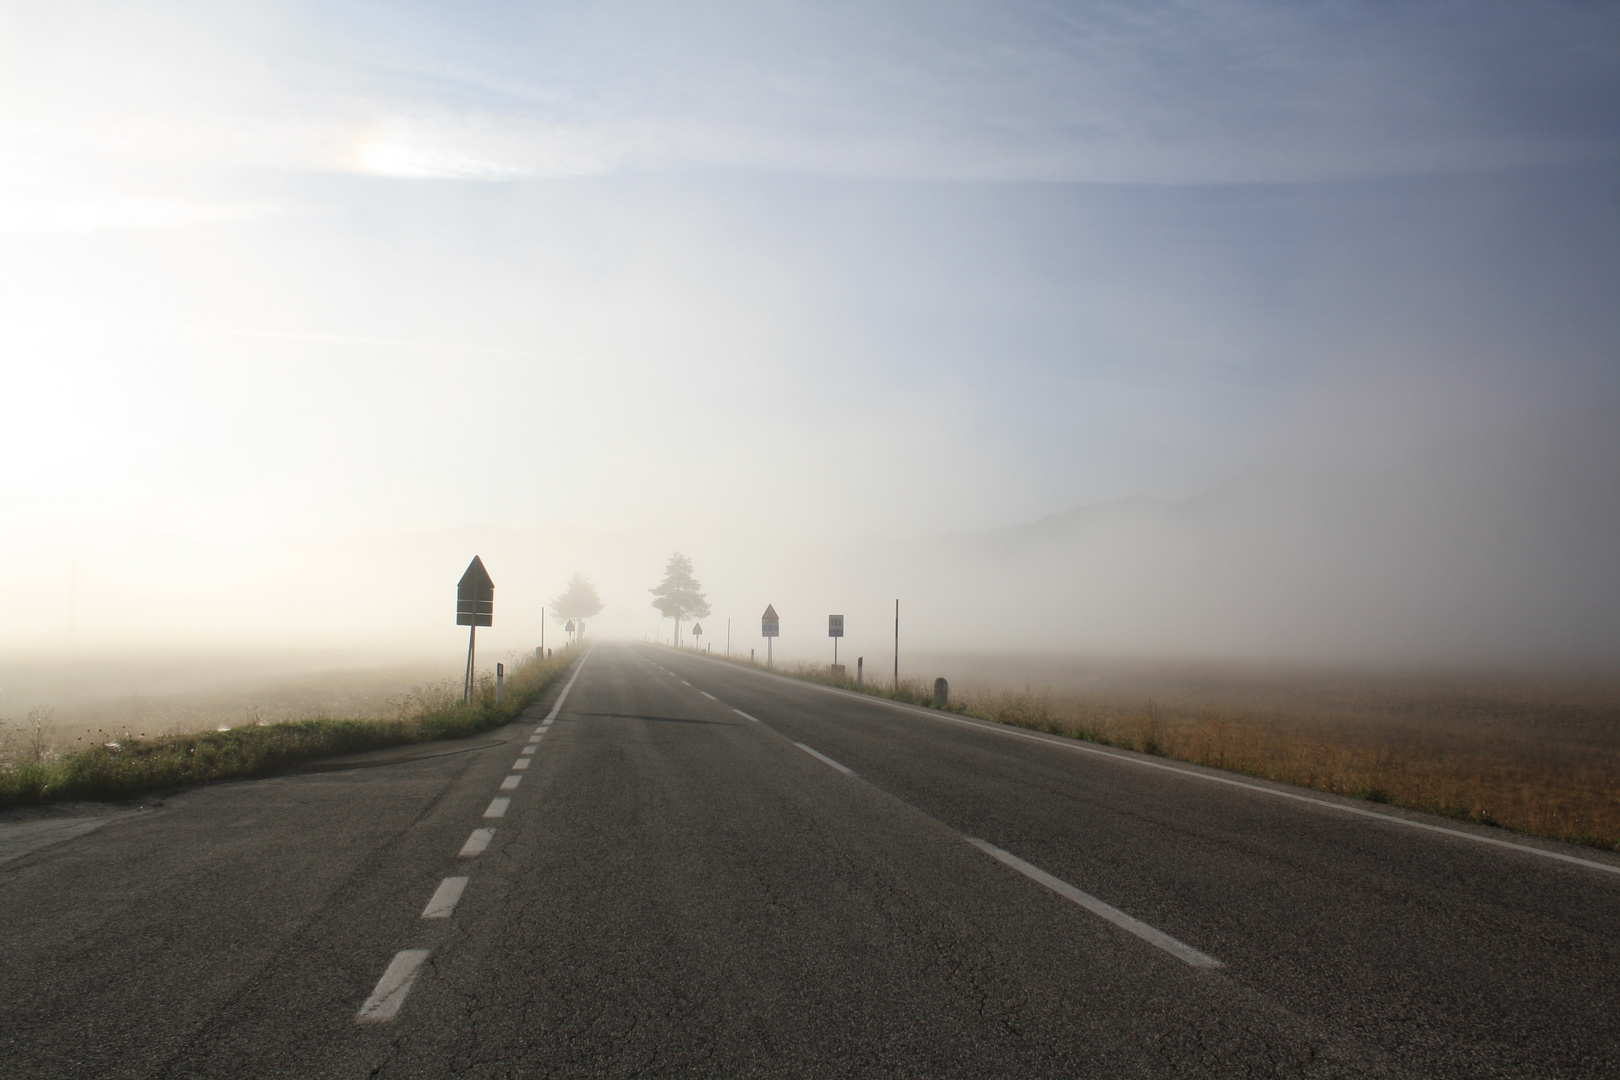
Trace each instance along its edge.
<path fill-rule="evenodd" d="M 1620 680 L 922 656 L 951 708 L 1231 772 L 1620 847 Z M 826 682 L 825 665 L 789 670 Z M 867 690 L 925 704 L 933 675 Z"/>

